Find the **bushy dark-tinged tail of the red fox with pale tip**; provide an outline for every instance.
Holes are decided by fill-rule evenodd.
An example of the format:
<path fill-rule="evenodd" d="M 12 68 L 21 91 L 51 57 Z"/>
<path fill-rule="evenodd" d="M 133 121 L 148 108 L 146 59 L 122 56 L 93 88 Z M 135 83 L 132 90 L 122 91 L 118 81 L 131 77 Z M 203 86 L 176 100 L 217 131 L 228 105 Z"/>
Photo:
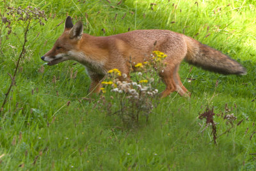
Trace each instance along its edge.
<path fill-rule="evenodd" d="M 220 51 L 208 47 L 193 40 L 192 38 L 185 37 L 188 52 L 185 61 L 195 66 L 200 66 L 204 70 L 214 71 L 222 74 L 236 74 L 245 75 L 246 69 L 234 59 L 231 59 Z"/>

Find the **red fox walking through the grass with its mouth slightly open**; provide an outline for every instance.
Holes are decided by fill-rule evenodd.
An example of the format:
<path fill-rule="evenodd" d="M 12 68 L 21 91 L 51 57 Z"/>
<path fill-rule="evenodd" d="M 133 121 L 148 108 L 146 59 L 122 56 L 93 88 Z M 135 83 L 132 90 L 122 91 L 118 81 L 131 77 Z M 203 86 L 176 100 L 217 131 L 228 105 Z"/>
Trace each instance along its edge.
<path fill-rule="evenodd" d="M 109 70 L 117 68 L 130 78 L 131 68 L 149 60 L 153 50 L 167 55 L 163 60 L 166 66 L 159 72 L 166 85 L 162 97 L 173 91 L 177 91 L 180 96 L 189 94 L 178 73 L 183 59 L 189 64 L 217 73 L 246 74 L 245 68 L 237 61 L 184 34 L 152 29 L 96 37 L 83 33 L 81 21 L 73 25 L 70 16 L 65 21 L 64 33 L 41 59 L 47 61 L 49 66 L 67 60 L 83 64 L 92 79 L 89 92 L 99 93 L 100 82 Z M 120 79 L 123 79 L 122 76 Z"/>

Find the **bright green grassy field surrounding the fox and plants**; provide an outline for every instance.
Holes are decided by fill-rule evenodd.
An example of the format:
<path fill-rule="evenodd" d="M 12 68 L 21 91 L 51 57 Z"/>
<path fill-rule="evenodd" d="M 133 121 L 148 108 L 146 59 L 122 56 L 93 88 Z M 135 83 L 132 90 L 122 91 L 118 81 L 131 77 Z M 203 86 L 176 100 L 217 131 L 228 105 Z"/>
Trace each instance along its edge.
<path fill-rule="evenodd" d="M 16 84 L 0 114 L 0 170 L 256 170 L 255 1 L 118 2 L 6 1 L 14 8 L 40 8 L 48 20 L 44 26 L 31 25 Z M 0 13 L 6 11 L 1 2 Z M 118 115 L 102 112 L 99 96 L 87 96 L 90 78 L 81 64 L 47 66 L 40 59 L 63 32 L 67 15 L 81 19 L 84 33 L 94 36 L 135 29 L 184 33 L 236 59 L 248 74 L 220 75 L 182 63 L 180 77 L 191 98 L 173 93 L 159 100 L 148 121 L 141 117 L 130 128 Z M 6 39 L 3 20 L 0 29 L 2 104 L 24 32 L 13 22 Z M 164 85 L 157 89 L 163 91 Z M 198 119 L 207 107 L 216 114 L 216 144 L 211 126 L 204 130 L 205 120 Z M 236 117 L 232 124 L 226 114 Z"/>

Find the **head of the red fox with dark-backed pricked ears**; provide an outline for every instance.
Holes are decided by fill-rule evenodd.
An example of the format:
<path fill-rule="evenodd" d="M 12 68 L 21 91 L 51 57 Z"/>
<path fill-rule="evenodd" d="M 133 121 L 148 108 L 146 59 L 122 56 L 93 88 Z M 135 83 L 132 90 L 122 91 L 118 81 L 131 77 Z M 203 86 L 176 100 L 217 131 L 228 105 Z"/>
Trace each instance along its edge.
<path fill-rule="evenodd" d="M 78 21 L 75 26 L 71 17 L 68 16 L 65 21 L 63 34 L 54 43 L 49 52 L 41 57 L 48 65 L 54 65 L 72 59 L 72 50 L 78 49 L 79 41 L 83 36 L 83 23 Z"/>

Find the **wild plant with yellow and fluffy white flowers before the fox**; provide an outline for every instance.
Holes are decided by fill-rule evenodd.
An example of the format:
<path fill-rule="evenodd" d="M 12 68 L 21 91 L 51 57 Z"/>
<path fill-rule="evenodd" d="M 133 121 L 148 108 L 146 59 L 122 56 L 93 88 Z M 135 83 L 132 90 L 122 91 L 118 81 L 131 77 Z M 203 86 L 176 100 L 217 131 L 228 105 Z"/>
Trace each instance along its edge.
<path fill-rule="evenodd" d="M 132 63 L 139 71 L 132 79 L 118 69 L 109 70 L 102 84 L 102 108 L 109 115 L 118 114 L 123 123 L 138 123 L 139 115 L 146 116 L 158 104 L 159 91 L 155 88 L 157 81 L 154 77 L 163 68 L 162 60 L 166 57 L 163 52 L 154 51 L 152 57 L 143 63 Z M 109 98 L 108 92 L 111 93 Z M 115 98 L 114 98 L 115 97 Z M 116 101 L 116 103 L 113 101 Z"/>

